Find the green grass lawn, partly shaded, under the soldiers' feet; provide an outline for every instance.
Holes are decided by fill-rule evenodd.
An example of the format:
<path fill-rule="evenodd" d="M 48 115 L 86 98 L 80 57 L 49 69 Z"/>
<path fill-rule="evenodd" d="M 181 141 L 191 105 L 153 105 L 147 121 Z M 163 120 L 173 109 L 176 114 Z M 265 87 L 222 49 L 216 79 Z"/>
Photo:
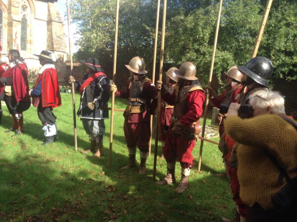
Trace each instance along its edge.
<path fill-rule="evenodd" d="M 36 108 L 24 112 L 20 136 L 4 133 L 11 126 L 6 106 L 0 124 L 0 221 L 166 221 L 219 222 L 233 218 L 235 204 L 229 180 L 215 173 L 224 171 L 216 145 L 204 142 L 202 172 L 197 171 L 199 141 L 190 189 L 176 194 L 176 185 L 158 186 L 152 179 L 153 152 L 148 173 L 138 168 L 120 170 L 128 161 L 122 112 L 115 112 L 112 166 L 108 168 L 110 120 L 105 120 L 104 156 L 100 159 L 74 150 L 71 94 L 62 93 L 62 106 L 54 109 L 59 140 L 41 146 L 44 139 Z M 79 96 L 76 95 L 76 108 Z M 124 109 L 125 101 L 115 100 Z M 202 121 L 201 121 L 202 124 Z M 79 151 L 89 147 L 89 137 L 77 118 Z M 218 141 L 218 138 L 214 139 Z M 152 150 L 154 142 L 152 142 Z M 139 152 L 139 151 L 138 151 Z M 159 151 L 160 152 L 160 148 Z M 137 161 L 140 162 L 139 153 Z M 157 179 L 166 172 L 164 160 L 157 160 Z M 177 180 L 180 166 L 177 164 Z"/>

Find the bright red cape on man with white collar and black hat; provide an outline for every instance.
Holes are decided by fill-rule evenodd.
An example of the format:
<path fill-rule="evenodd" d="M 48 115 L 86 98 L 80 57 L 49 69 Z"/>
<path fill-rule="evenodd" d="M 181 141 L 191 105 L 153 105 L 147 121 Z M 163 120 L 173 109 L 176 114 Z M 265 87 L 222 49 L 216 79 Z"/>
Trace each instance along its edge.
<path fill-rule="evenodd" d="M 61 106 L 61 96 L 58 84 L 57 72 L 54 68 L 47 68 L 39 75 L 35 88 L 41 81 L 41 103 L 42 107 L 56 108 Z"/>

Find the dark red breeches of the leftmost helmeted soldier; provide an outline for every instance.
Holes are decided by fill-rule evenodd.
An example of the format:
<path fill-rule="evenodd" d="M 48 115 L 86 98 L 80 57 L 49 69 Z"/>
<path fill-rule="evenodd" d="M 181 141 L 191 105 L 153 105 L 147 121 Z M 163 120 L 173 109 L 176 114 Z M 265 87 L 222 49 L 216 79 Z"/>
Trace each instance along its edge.
<path fill-rule="evenodd" d="M 129 123 L 124 121 L 124 133 L 128 148 L 138 147 L 141 152 L 148 152 L 150 140 L 150 122 Z"/>

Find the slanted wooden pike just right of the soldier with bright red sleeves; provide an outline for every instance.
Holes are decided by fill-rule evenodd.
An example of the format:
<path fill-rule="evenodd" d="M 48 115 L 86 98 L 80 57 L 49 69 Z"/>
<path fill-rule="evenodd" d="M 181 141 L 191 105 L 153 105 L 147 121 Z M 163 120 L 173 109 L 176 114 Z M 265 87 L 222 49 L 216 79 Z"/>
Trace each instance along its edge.
<path fill-rule="evenodd" d="M 215 29 L 215 37 L 214 37 L 214 43 L 213 43 L 213 50 L 212 50 L 212 58 L 211 58 L 211 64 L 210 64 L 210 71 L 209 71 L 209 76 L 208 76 L 208 87 L 211 86 L 215 50 L 216 50 L 216 44 L 217 44 L 217 40 L 218 40 L 218 33 L 219 33 L 219 27 L 220 27 L 222 3 L 223 3 L 223 0 L 220 0 L 217 24 L 216 24 L 216 29 Z M 202 138 L 204 138 L 204 133 L 205 133 L 205 125 L 206 125 L 207 109 L 208 109 L 208 98 L 209 98 L 209 91 L 206 90 L 205 108 L 204 108 L 204 116 L 203 116 L 204 119 L 203 119 L 202 133 L 201 133 Z M 199 152 L 199 159 L 198 159 L 198 171 L 200 171 L 200 168 L 201 168 L 202 151 L 203 151 L 203 140 L 201 140 L 201 142 L 200 142 L 200 152 Z"/>

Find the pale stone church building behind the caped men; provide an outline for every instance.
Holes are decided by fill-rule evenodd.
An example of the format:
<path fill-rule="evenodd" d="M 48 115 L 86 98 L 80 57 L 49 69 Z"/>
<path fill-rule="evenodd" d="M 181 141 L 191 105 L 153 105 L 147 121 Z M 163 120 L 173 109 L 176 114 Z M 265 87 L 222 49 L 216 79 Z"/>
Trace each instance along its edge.
<path fill-rule="evenodd" d="M 40 69 L 37 56 L 42 50 L 53 52 L 59 81 L 66 72 L 64 25 L 57 0 L 0 0 L 1 52 L 19 50 L 25 59 L 30 81 L 35 81 Z"/>

